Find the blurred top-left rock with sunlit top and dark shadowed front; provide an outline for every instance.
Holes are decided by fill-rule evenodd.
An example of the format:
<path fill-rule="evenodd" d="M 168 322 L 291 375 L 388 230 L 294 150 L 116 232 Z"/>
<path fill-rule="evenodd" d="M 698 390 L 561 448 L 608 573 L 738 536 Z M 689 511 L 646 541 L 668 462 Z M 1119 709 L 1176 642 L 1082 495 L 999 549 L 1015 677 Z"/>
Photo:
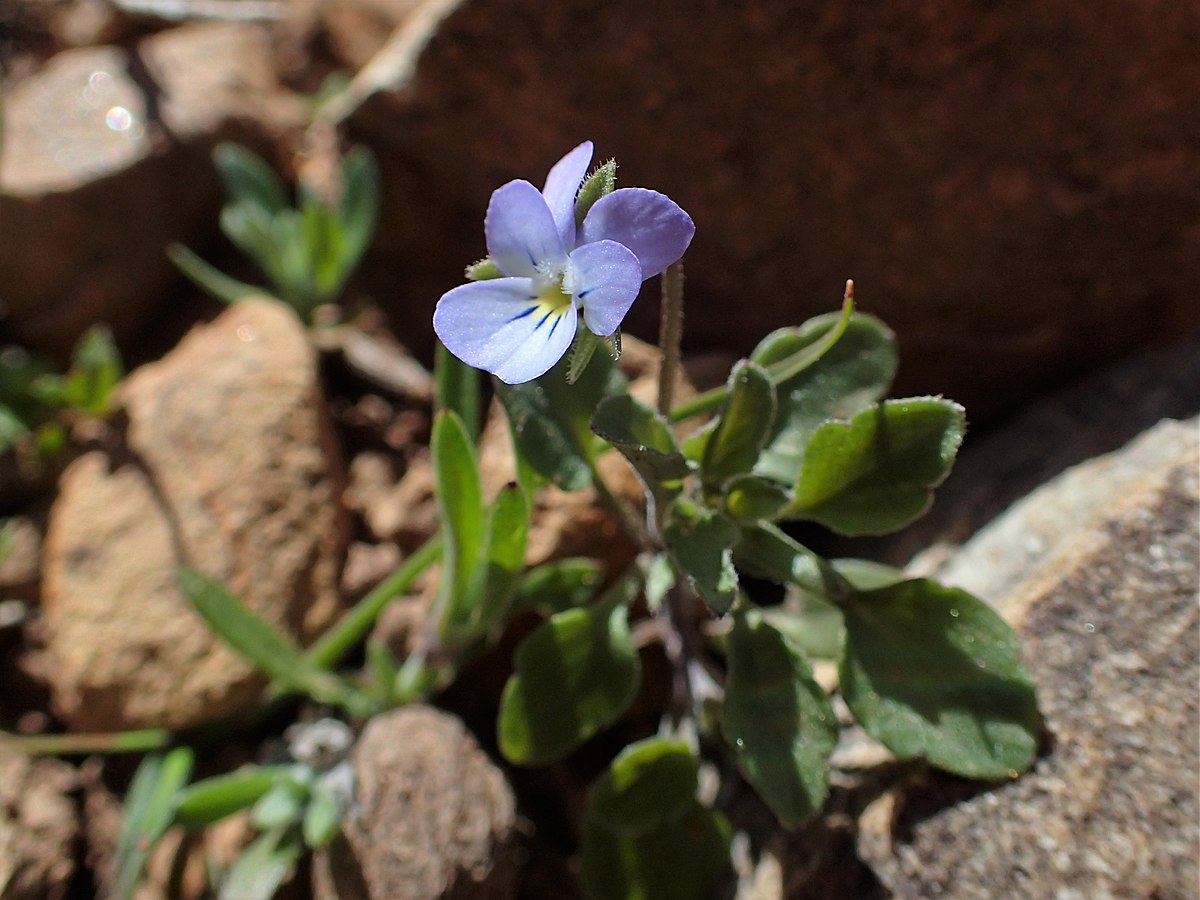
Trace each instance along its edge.
<path fill-rule="evenodd" d="M 184 25 L 133 52 L 56 54 L 5 98 L 0 300 L 22 343 L 65 358 L 103 322 L 128 338 L 179 275 L 163 248 L 214 234 L 221 139 L 293 115 L 264 30 Z"/>

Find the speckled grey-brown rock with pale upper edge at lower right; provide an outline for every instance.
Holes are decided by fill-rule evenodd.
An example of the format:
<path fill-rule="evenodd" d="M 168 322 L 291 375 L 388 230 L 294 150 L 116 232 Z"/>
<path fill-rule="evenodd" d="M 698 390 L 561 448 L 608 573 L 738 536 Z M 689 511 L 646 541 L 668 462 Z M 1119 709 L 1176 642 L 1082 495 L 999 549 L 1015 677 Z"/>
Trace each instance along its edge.
<path fill-rule="evenodd" d="M 1200 420 L 1166 421 L 1042 487 L 940 572 L 1015 624 L 1052 744 L 1012 782 L 931 775 L 872 804 L 858 846 L 889 889 L 1195 895 L 1198 493 Z"/>

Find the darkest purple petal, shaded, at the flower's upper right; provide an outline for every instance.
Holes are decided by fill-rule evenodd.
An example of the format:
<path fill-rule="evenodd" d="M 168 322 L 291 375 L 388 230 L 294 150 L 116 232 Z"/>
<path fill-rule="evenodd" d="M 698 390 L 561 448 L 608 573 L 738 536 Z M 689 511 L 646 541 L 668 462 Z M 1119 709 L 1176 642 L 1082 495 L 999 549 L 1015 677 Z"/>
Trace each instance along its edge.
<path fill-rule="evenodd" d="M 578 242 L 624 244 L 642 265 L 642 278 L 658 275 L 679 259 L 696 226 L 666 194 L 644 187 L 623 187 L 601 197 L 580 227 Z"/>

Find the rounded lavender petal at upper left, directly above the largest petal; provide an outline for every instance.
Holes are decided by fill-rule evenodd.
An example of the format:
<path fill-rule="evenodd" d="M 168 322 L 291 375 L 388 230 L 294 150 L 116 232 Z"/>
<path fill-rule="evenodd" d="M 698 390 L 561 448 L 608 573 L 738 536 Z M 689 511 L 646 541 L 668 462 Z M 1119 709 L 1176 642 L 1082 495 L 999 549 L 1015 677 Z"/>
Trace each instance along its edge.
<path fill-rule="evenodd" d="M 505 275 L 533 276 L 539 265 L 566 262 L 546 199 L 528 181 L 509 181 L 492 192 L 484 233 L 487 256 Z"/>

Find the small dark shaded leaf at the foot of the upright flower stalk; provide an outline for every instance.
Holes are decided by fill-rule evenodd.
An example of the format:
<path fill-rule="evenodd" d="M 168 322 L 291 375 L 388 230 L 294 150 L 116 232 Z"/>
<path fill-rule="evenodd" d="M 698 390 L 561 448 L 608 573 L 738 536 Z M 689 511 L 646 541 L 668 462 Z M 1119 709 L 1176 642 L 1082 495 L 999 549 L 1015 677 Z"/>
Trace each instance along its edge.
<path fill-rule="evenodd" d="M 628 394 L 600 402 L 592 416 L 592 431 L 629 460 L 659 503 L 677 494 L 682 479 L 691 470 L 666 420 Z"/>

